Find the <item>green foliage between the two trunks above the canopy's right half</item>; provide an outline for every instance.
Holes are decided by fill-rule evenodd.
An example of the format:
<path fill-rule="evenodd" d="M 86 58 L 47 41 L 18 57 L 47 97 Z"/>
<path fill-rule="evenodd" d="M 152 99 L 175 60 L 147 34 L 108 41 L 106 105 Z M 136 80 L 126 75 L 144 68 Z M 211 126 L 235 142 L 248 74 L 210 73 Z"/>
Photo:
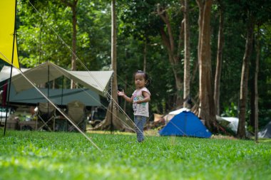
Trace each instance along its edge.
<path fill-rule="evenodd" d="M 110 8 L 105 1 L 84 0 L 79 1 L 78 4 L 78 53 L 76 54 L 90 70 L 101 70 L 111 64 Z M 80 65 L 78 69 L 86 70 Z"/>

